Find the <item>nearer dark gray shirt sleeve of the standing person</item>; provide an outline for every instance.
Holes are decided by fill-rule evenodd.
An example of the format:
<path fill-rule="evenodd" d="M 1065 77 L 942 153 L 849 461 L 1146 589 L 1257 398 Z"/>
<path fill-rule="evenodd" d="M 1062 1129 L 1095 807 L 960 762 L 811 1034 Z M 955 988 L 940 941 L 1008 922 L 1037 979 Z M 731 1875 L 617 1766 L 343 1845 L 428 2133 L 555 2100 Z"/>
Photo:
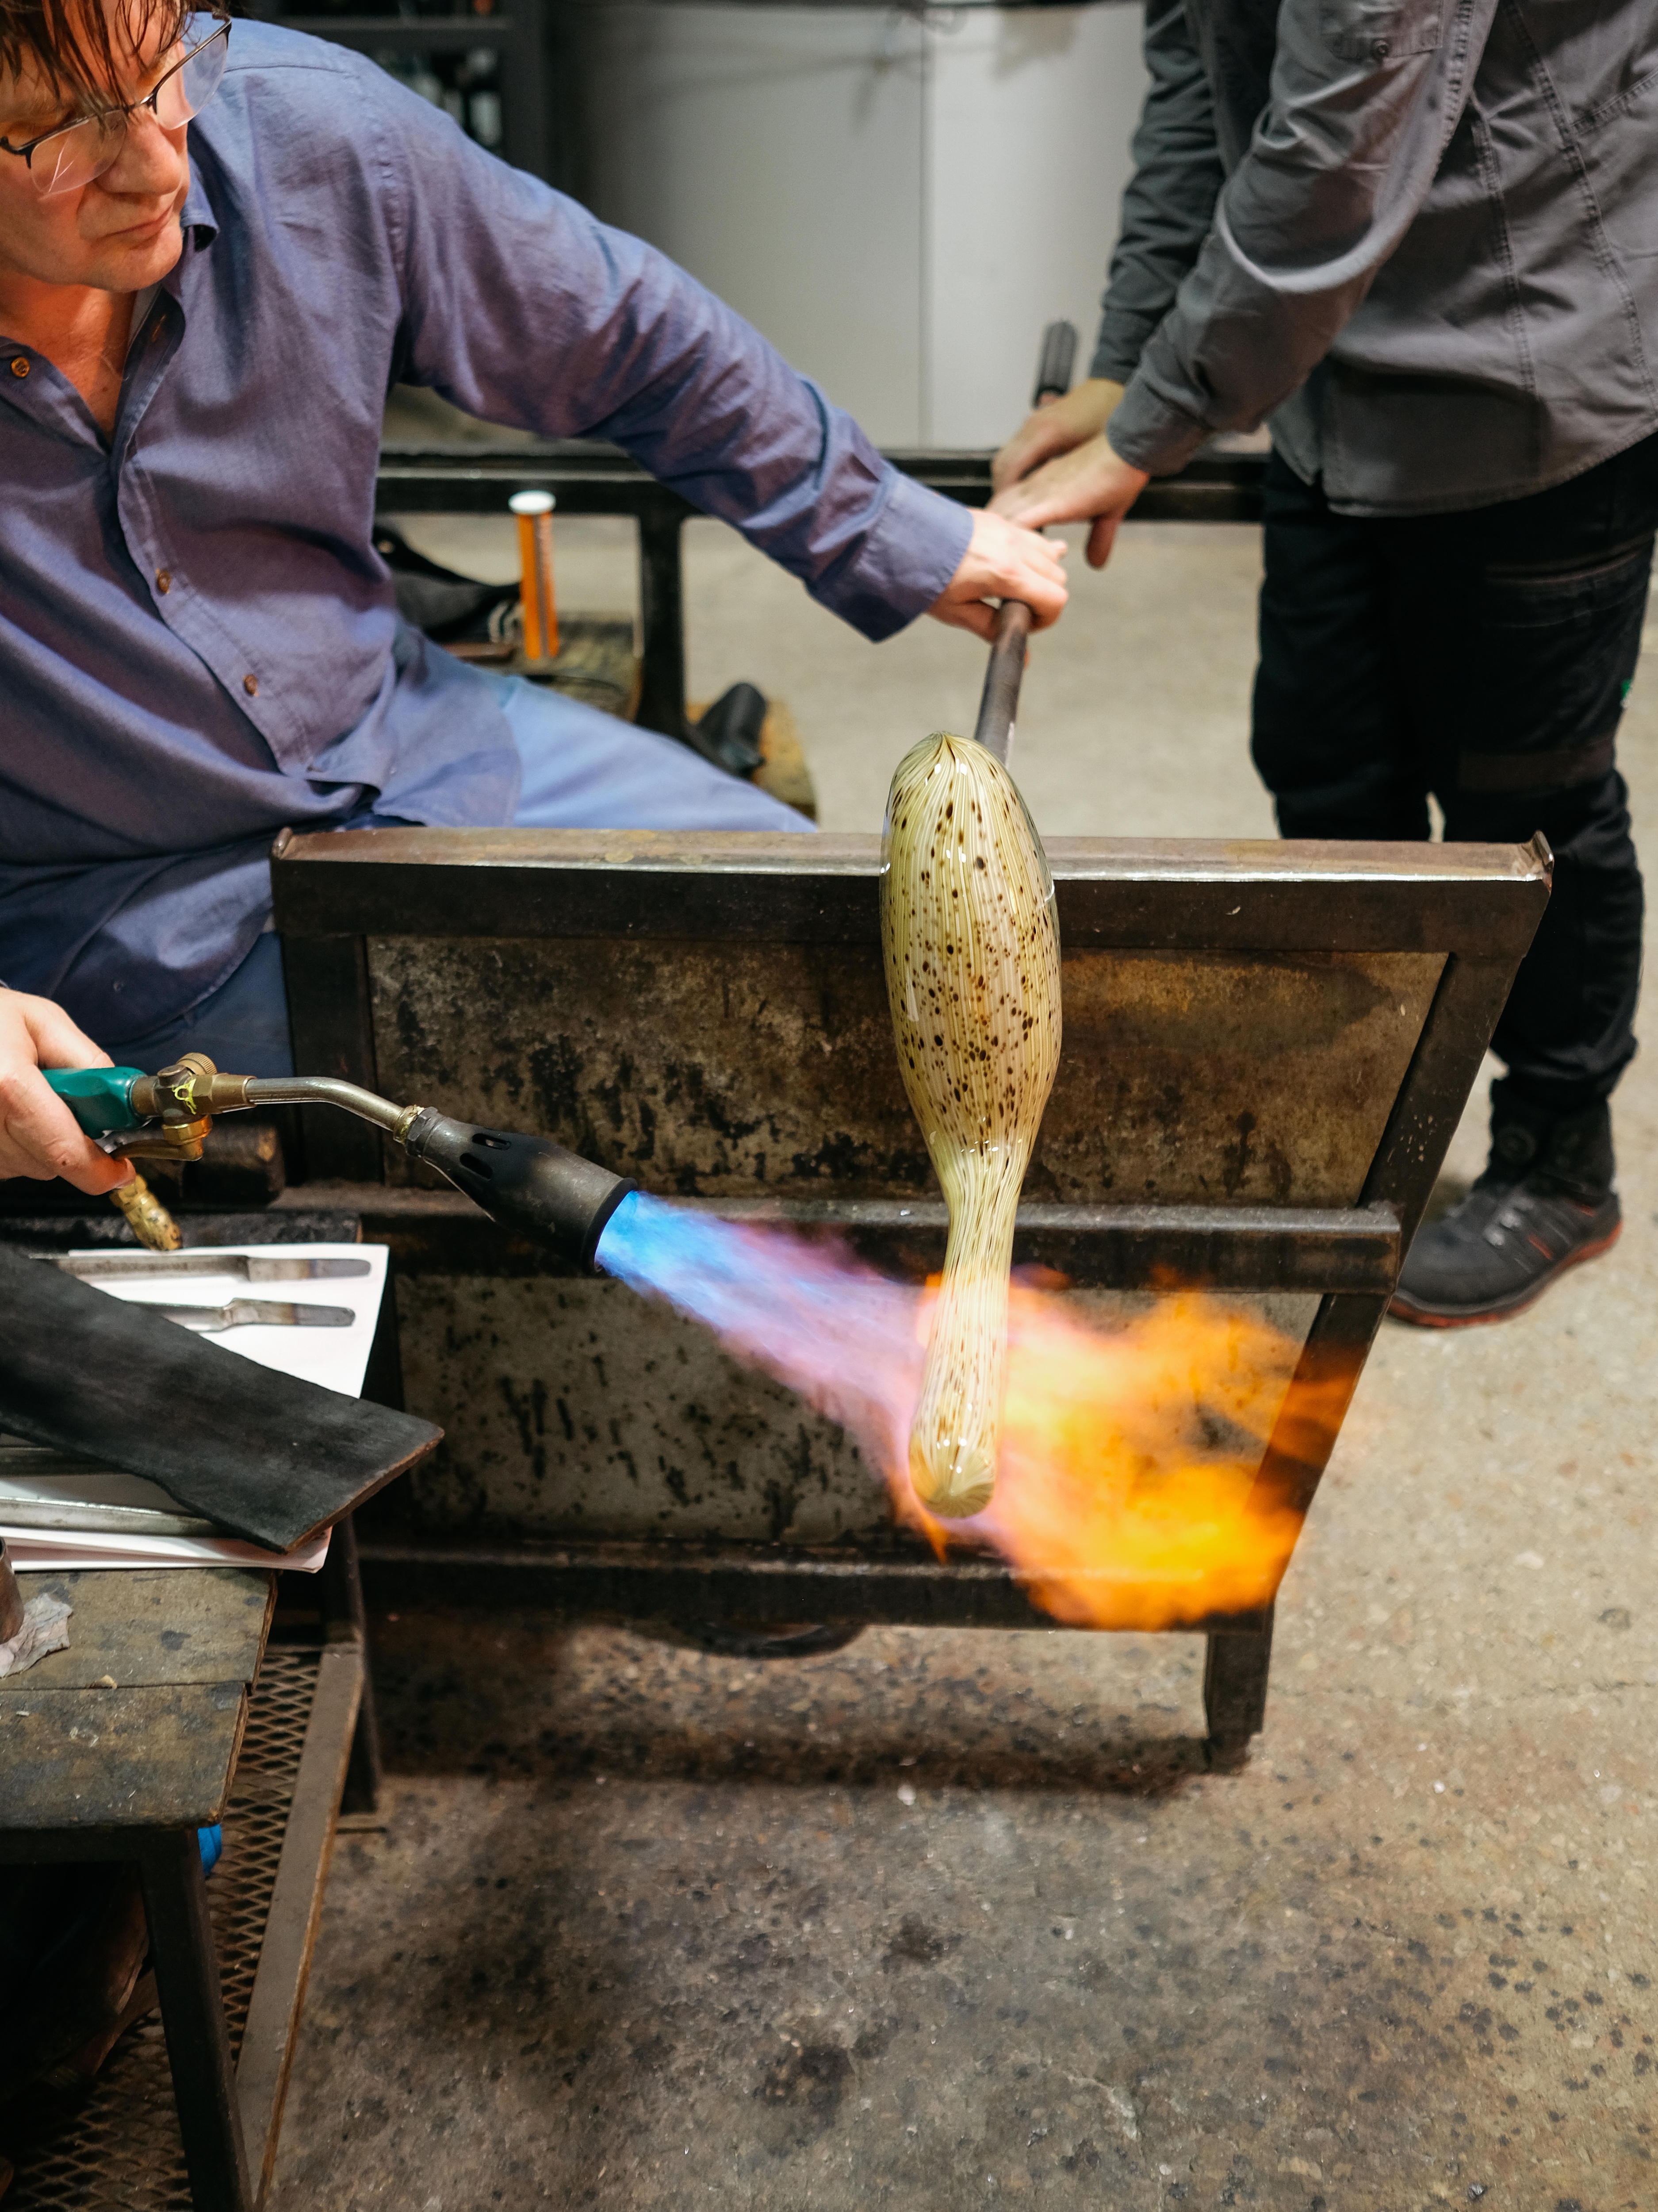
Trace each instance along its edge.
<path fill-rule="evenodd" d="M 1497 0 L 1284 0 L 1271 95 L 1110 422 L 1150 476 L 1300 389 L 1419 212 Z"/>

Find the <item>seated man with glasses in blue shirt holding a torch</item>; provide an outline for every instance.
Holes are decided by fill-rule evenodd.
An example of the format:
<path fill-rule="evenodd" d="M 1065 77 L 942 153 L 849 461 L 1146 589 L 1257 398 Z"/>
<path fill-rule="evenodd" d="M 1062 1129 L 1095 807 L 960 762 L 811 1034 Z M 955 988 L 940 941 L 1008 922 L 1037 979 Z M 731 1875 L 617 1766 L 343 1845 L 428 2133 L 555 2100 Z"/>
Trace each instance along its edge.
<path fill-rule="evenodd" d="M 91 1037 L 281 1071 L 283 825 L 802 827 L 398 622 L 400 380 L 615 440 L 864 637 L 1063 606 L 1059 549 L 902 478 L 730 307 L 371 62 L 177 0 L 0 0 L 0 1175 L 122 1179 L 35 1075 Z"/>

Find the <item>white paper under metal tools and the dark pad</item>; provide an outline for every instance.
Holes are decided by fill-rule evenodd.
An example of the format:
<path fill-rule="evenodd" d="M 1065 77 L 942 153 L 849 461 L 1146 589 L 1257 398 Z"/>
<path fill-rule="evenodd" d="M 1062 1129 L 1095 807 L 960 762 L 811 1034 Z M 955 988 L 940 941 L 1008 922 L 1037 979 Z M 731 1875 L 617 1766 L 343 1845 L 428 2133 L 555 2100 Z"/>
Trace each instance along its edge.
<path fill-rule="evenodd" d="M 363 1259 L 367 1274 L 298 1283 L 250 1285 L 241 1274 L 214 1274 L 214 1254 L 272 1259 Z M 190 1248 L 201 1274 L 99 1281 L 97 1290 L 128 1305 L 228 1305 L 232 1298 L 290 1298 L 298 1305 L 349 1305 L 349 1329 L 296 1329 L 254 1323 L 214 1338 L 225 1352 L 274 1367 L 279 1374 L 363 1394 L 374 1325 L 380 1318 L 387 1248 L 347 1243 L 212 1245 Z M 261 1551 L 212 1533 L 212 1522 L 181 1513 L 159 1482 L 66 1460 L 18 1438 L 0 1436 L 0 1537 L 13 1566 L 64 1571 L 88 1566 L 283 1566 L 314 1575 L 327 1557 L 327 1533 L 298 1551 Z"/>

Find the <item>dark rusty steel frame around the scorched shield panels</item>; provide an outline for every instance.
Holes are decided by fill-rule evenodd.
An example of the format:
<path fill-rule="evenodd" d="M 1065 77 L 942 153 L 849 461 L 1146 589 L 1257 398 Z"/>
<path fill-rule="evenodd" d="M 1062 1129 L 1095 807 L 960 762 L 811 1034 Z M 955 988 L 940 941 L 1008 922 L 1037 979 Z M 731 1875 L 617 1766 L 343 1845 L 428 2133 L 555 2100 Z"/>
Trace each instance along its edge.
<path fill-rule="evenodd" d="M 1019 1212 L 1017 1259 L 1083 1287 L 1167 1281 L 1315 1292 L 1318 1310 L 1258 1480 L 1307 1511 L 1402 1256 L 1428 1203 L 1514 969 L 1547 900 L 1547 852 L 1446 845 L 1052 841 L 1068 947 L 1167 953 L 1444 953 L 1433 1002 L 1349 1208 L 1048 1206 Z M 382 1088 L 369 945 L 427 938 L 654 938 L 701 945 L 878 942 L 878 841 L 584 832 L 367 832 L 279 841 L 272 880 L 294 1048 L 307 1073 Z M 442 1102 L 438 1102 L 442 1104 Z M 312 1117 L 309 1183 L 287 1203 L 349 1203 L 402 1276 L 555 1274 L 453 1192 L 391 1188 L 380 1139 Z M 937 1265 L 926 1199 L 703 1201 L 716 1212 L 833 1223 L 893 1272 Z M 1318 1416 L 1309 1418 L 1318 1407 Z M 486 1584 L 628 1617 L 902 1621 L 1052 1628 L 988 1559 L 920 1544 L 849 1551 L 672 1542 L 502 1542 L 365 1528 L 369 1577 L 418 1593 Z M 1262 1725 L 1271 1608 L 1189 1624 L 1207 1635 L 1209 1743 L 1236 1756 Z"/>

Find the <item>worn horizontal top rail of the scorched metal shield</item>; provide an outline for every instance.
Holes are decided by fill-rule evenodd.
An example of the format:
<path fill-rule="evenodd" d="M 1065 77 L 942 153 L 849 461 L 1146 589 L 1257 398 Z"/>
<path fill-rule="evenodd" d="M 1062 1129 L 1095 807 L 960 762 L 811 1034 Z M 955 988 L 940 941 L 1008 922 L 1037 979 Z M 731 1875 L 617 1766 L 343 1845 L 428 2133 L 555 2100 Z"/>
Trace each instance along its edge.
<path fill-rule="evenodd" d="M 1497 885 L 1517 847 L 1207 838 L 1046 841 L 1070 951 L 1404 951 L 1490 936 L 1514 962 L 1525 900 Z M 354 1035 L 371 1026 L 367 938 L 721 938 L 880 947 L 880 838 L 844 832 L 329 830 L 272 847 L 285 958 L 329 958 L 307 989 Z M 1539 874 L 1541 874 L 1539 863 Z M 1404 916 L 1404 920 L 1402 920 Z M 1404 940 L 1404 942 L 1402 942 Z M 316 951 L 312 951 L 312 945 Z M 360 980 L 360 991 L 349 984 Z M 294 991 L 290 978 L 290 995 Z M 374 1091 L 354 1055 L 301 1055 Z"/>

